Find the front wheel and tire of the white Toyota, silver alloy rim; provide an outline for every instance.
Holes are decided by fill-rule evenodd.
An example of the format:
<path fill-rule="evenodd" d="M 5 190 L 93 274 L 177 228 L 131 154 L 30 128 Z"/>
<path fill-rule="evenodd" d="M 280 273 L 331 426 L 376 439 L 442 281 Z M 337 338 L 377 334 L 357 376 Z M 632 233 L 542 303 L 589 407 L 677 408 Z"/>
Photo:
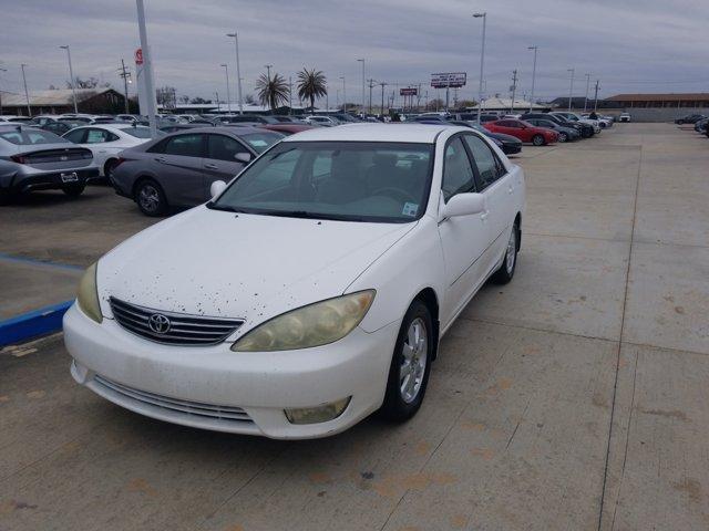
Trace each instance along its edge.
<path fill-rule="evenodd" d="M 410 343 L 418 343 L 418 346 L 411 350 Z M 403 317 L 391 357 L 387 393 L 381 407 L 387 419 L 402 423 L 413 417 L 421 407 L 431 373 L 433 346 L 431 312 L 423 302 L 415 300 Z M 407 385 L 409 382 L 412 384 Z"/>

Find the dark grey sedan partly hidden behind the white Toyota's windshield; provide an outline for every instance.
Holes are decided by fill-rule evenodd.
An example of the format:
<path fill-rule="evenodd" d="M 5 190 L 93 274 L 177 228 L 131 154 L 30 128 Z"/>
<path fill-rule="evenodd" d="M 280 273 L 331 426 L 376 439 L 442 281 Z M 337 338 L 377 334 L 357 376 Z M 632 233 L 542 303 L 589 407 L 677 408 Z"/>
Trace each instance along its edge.
<path fill-rule="evenodd" d="M 115 191 L 146 216 L 209 199 L 215 180 L 229 181 L 284 135 L 256 127 L 199 127 L 125 149 L 111 175 Z"/>

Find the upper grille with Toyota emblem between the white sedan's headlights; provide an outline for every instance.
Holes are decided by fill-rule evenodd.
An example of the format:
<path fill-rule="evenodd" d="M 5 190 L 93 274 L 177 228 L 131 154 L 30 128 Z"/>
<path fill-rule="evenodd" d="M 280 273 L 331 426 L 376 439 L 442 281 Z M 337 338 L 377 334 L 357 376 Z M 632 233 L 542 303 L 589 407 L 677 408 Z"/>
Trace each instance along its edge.
<path fill-rule="evenodd" d="M 237 319 L 204 317 L 186 313 L 163 312 L 151 308 L 138 306 L 111 298 L 111 310 L 115 321 L 129 332 L 146 340 L 169 345 L 201 346 L 220 343 L 232 335 L 244 321 Z M 161 327 L 151 327 L 151 317 L 167 317 L 168 324 L 161 333 Z M 153 324 L 155 324 L 153 320 Z"/>

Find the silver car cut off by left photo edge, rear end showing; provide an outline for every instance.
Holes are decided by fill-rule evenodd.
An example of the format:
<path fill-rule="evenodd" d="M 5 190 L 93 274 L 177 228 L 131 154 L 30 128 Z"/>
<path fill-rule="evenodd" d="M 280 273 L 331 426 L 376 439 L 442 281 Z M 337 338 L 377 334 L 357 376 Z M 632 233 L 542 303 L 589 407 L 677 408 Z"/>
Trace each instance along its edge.
<path fill-rule="evenodd" d="M 97 177 L 91 150 L 49 131 L 0 124 L 0 204 L 33 190 L 76 197 Z"/>

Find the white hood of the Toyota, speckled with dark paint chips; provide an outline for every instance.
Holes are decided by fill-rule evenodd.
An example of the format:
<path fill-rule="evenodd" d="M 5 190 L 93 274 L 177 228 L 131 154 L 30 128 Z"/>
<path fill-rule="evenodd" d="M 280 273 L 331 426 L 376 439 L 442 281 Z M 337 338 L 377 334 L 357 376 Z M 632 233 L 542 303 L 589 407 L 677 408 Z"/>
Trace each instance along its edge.
<path fill-rule="evenodd" d="M 115 296 L 166 312 L 239 317 L 248 330 L 342 294 L 414 226 L 196 207 L 132 237 L 100 260 L 102 311 L 113 316 L 109 298 Z"/>

